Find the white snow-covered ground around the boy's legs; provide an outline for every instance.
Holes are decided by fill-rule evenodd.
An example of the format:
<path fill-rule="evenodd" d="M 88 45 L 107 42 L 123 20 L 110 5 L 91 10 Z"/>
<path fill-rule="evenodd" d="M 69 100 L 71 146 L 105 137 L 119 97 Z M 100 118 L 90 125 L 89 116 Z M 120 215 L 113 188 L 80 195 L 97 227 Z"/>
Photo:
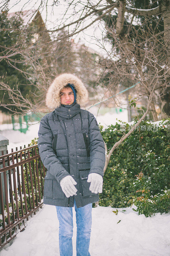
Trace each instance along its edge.
<path fill-rule="evenodd" d="M 133 208 L 133 206 L 132 206 Z M 135 208 L 135 207 L 134 207 Z M 146 218 L 130 207 L 92 208 L 91 256 L 169 256 L 170 214 L 157 213 Z M 122 210 L 126 210 L 123 212 Z M 121 220 L 119 222 L 119 220 Z M 118 223 L 119 222 L 119 223 Z M 57 213 L 55 206 L 43 205 L 18 232 L 11 246 L 0 256 L 59 256 Z M 73 256 L 76 256 L 76 216 L 73 207 Z"/>

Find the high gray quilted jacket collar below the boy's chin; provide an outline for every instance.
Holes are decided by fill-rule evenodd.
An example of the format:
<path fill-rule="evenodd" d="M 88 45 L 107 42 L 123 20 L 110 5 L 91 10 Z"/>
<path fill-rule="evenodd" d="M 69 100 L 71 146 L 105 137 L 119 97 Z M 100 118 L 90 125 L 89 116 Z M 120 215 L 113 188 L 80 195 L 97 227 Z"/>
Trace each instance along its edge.
<path fill-rule="evenodd" d="M 80 112 L 80 105 L 78 103 L 73 103 L 71 105 L 61 104 L 61 106 L 58 108 L 55 108 L 54 111 L 58 116 L 62 116 L 66 119 L 70 119 Z"/>

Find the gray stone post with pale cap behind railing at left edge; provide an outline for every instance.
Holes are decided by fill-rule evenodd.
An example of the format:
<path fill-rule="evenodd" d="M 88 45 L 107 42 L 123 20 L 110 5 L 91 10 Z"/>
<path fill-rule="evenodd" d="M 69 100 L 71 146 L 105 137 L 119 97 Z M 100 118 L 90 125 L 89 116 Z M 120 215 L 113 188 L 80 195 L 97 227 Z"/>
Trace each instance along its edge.
<path fill-rule="evenodd" d="M 9 145 L 9 140 L 5 138 L 2 134 L 0 134 L 0 156 L 2 156 L 2 152 L 4 151 L 4 154 L 6 154 L 7 150 L 7 145 Z M 5 166 L 7 166 L 8 163 L 5 163 Z M 3 168 L 3 165 L 0 164 L 0 169 Z M 3 172 L 0 173 L 1 175 L 1 180 L 2 180 L 2 196 L 3 196 L 3 202 L 4 205 L 6 204 L 5 202 L 5 188 L 4 188 L 4 175 Z M 8 189 L 8 171 L 6 171 L 6 180 L 7 180 L 7 189 Z M 1 211 L 1 203 L 0 203 L 0 214 L 2 213 Z"/>

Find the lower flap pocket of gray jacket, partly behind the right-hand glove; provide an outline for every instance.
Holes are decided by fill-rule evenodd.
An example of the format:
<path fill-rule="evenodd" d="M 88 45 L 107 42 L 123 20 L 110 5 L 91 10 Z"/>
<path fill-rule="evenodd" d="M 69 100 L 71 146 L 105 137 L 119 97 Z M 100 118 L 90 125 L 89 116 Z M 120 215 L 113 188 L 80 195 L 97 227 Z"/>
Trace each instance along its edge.
<path fill-rule="evenodd" d="M 90 169 L 79 170 L 80 182 L 81 182 L 81 188 L 82 188 L 81 192 L 83 197 L 99 195 L 99 193 L 95 194 L 95 193 L 92 193 L 91 190 L 89 190 L 90 184 L 91 184 L 91 182 L 87 182 L 89 172 L 90 172 Z"/>

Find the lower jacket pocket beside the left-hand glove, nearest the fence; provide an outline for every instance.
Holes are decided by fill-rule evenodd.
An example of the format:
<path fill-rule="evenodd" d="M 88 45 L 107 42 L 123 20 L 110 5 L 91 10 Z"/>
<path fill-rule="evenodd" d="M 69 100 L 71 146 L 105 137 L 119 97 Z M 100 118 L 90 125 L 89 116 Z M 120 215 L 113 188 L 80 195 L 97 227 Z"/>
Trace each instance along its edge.
<path fill-rule="evenodd" d="M 65 199 L 65 194 L 57 180 L 44 178 L 44 198 Z"/>

